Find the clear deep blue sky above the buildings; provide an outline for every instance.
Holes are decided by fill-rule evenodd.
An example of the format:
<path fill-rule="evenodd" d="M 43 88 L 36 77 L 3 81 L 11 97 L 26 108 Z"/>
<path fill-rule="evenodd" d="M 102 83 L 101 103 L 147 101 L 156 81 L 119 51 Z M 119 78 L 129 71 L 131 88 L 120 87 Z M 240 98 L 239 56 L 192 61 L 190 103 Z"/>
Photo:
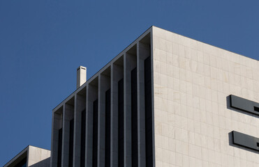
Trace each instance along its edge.
<path fill-rule="evenodd" d="M 0 1 L 0 166 L 50 150 L 52 109 L 151 25 L 259 59 L 259 1 Z"/>

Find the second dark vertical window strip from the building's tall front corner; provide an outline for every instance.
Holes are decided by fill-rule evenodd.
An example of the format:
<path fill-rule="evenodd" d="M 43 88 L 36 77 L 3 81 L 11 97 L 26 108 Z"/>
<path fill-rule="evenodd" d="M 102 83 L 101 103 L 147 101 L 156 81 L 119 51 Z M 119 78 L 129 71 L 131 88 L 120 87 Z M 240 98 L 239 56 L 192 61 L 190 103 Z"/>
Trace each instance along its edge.
<path fill-rule="evenodd" d="M 131 157 L 132 166 L 138 166 L 138 90 L 137 68 L 131 71 Z"/>

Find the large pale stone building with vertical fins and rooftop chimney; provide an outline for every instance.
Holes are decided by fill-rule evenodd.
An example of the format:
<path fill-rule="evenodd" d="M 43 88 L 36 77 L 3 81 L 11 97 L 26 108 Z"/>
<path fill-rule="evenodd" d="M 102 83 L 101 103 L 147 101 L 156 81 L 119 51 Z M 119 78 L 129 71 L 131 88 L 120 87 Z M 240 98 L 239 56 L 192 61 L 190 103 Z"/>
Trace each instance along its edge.
<path fill-rule="evenodd" d="M 52 167 L 259 166 L 258 61 L 151 26 L 85 75 L 52 111 Z"/>

